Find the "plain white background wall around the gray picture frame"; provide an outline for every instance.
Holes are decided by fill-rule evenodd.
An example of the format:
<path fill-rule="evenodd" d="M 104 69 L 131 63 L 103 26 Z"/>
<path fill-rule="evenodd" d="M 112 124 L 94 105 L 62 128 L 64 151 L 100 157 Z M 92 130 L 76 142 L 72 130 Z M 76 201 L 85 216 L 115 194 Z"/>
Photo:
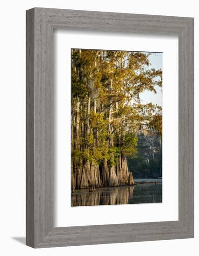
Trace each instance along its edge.
<path fill-rule="evenodd" d="M 32 7 L 141 13 L 195 18 L 195 115 L 199 97 L 199 12 L 197 1 L 189 0 L 7 0 L 0 5 L 0 254 L 45 255 L 197 255 L 199 219 L 195 238 L 184 240 L 120 243 L 32 249 L 25 246 L 25 11 Z M 198 116 L 195 130 L 199 130 Z M 195 134 L 195 158 L 199 154 Z M 199 163 L 195 161 L 195 216 L 199 216 Z"/>

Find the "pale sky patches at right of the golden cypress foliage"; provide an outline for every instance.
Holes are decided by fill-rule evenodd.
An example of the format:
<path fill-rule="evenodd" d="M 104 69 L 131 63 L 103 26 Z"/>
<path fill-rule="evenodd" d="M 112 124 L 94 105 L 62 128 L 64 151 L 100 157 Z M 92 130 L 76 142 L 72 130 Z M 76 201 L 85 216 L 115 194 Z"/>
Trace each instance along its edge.
<path fill-rule="evenodd" d="M 149 63 L 151 63 L 149 68 L 162 69 L 162 55 L 162 53 L 152 53 L 149 56 Z M 140 94 L 142 104 L 152 102 L 153 104 L 157 104 L 158 106 L 162 107 L 162 88 L 156 86 L 155 89 L 157 91 L 157 94 L 149 91 L 145 91 Z"/>

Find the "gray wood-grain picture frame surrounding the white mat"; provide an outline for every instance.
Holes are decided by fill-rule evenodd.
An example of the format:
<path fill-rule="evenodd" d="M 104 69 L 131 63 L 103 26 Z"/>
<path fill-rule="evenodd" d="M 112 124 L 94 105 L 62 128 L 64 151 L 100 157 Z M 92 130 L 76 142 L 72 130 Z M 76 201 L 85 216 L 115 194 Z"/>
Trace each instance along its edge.
<path fill-rule="evenodd" d="M 179 36 L 178 221 L 53 227 L 53 29 L 57 28 Z M 28 246 L 43 248 L 194 236 L 193 72 L 193 18 L 47 8 L 27 10 Z"/>

